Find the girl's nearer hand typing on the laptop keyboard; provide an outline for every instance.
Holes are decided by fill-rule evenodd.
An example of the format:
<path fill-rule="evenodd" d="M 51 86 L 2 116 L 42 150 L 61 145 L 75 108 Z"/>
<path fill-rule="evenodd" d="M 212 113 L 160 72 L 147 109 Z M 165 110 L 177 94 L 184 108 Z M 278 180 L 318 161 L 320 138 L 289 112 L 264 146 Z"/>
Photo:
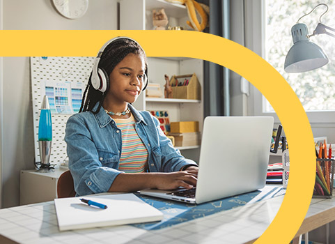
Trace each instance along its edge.
<path fill-rule="evenodd" d="M 155 188 L 171 190 L 179 187 L 191 189 L 196 186 L 198 170 L 177 171 L 172 173 L 156 173 Z"/>

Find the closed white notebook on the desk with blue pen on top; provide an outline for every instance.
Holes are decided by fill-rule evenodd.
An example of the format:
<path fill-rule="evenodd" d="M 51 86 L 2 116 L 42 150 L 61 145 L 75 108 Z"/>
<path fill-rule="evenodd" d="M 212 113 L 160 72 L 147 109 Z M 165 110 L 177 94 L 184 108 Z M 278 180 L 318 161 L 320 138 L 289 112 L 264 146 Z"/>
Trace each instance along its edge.
<path fill-rule="evenodd" d="M 79 200 L 81 198 L 107 205 L 108 208 L 88 206 Z M 161 211 L 146 204 L 132 193 L 60 198 L 54 199 L 54 204 L 60 231 L 163 219 Z"/>

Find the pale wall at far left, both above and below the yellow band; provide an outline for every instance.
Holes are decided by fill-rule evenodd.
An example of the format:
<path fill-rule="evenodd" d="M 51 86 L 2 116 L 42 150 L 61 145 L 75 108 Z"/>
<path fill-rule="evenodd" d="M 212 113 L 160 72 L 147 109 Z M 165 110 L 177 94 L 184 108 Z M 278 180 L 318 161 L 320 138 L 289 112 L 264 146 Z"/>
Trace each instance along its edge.
<path fill-rule="evenodd" d="M 0 0 L 0 3 L 1 1 L 3 1 L 3 29 L 5 30 L 118 28 L 116 0 L 90 1 L 88 12 L 78 20 L 68 20 L 59 15 L 51 0 Z M 1 96 L 0 77 L 0 96 L 3 98 L 2 117 L 0 99 L 0 125 L 2 118 L 2 137 L 4 138 L 1 153 L 0 137 L 2 156 L 0 157 L 0 163 L 2 158 L 0 180 L 3 190 L 2 200 L 1 198 L 0 200 L 2 207 L 8 207 L 19 204 L 20 170 L 33 169 L 34 162 L 29 57 L 3 58 L 2 92 L 3 96 Z"/>

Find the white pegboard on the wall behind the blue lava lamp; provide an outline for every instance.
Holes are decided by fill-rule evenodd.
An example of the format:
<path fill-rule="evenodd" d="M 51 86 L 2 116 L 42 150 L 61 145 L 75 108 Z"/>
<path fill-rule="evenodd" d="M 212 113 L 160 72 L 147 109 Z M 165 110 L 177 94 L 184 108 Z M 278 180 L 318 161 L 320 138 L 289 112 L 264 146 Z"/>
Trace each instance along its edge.
<path fill-rule="evenodd" d="M 52 110 L 52 153 L 50 163 L 59 166 L 67 158 L 66 144 L 64 141 L 65 125 L 68 118 L 79 110 L 81 89 L 83 87 L 85 88 L 88 82 L 94 60 L 95 57 L 32 56 L 30 58 L 35 162 L 40 162 L 38 123 L 40 107 L 45 93 L 52 96 L 53 92 L 54 105 L 58 102 L 61 105 L 59 107 L 63 107 L 63 109 L 58 112 L 56 109 Z M 54 84 L 54 89 L 52 89 L 52 86 L 49 84 Z M 65 106 L 68 98 L 65 98 L 67 96 L 63 96 L 68 92 L 68 89 L 71 89 L 69 94 L 71 94 L 73 101 L 71 106 L 73 108 L 72 110 L 69 109 L 69 106 Z M 84 90 L 82 92 L 84 92 Z M 57 94 L 59 94 L 59 96 L 57 96 Z"/>

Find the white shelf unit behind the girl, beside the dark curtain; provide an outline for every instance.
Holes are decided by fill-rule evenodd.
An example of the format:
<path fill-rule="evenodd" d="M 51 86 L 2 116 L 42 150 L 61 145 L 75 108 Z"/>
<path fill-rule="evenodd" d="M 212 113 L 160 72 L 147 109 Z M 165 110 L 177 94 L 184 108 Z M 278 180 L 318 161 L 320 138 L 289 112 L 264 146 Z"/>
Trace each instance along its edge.
<path fill-rule="evenodd" d="M 190 29 L 185 6 L 165 0 L 120 0 L 121 30 L 153 30 L 153 9 L 164 8 L 169 17 L 168 26 L 182 26 Z M 166 26 L 167 29 L 167 26 Z M 164 47 L 162 47 L 164 48 Z M 203 61 L 189 57 L 148 57 L 149 82 L 159 84 L 164 93 L 164 75 L 185 75 L 196 73 L 201 84 L 201 100 L 146 98 L 145 92 L 133 103 L 139 110 L 168 111 L 173 121 L 199 121 L 203 128 Z M 180 147 L 186 158 L 198 162 L 200 146 Z"/>

